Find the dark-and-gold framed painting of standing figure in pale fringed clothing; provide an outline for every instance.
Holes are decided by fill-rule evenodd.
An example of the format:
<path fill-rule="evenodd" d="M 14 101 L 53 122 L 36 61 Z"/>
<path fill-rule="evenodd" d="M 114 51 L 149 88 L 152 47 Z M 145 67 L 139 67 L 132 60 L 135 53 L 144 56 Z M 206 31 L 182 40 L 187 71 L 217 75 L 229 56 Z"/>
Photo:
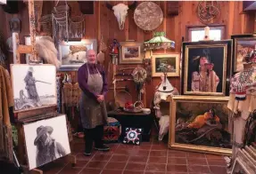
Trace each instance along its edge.
<path fill-rule="evenodd" d="M 232 40 L 183 43 L 183 95 L 225 96 L 229 91 Z"/>

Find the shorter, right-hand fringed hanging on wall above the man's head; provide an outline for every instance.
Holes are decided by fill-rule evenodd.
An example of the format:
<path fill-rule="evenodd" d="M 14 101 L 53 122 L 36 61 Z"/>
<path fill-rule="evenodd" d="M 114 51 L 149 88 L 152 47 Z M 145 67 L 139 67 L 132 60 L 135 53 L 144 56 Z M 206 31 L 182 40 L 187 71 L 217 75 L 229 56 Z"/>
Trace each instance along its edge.
<path fill-rule="evenodd" d="M 85 16 L 70 18 L 70 38 L 82 38 L 85 35 Z"/>

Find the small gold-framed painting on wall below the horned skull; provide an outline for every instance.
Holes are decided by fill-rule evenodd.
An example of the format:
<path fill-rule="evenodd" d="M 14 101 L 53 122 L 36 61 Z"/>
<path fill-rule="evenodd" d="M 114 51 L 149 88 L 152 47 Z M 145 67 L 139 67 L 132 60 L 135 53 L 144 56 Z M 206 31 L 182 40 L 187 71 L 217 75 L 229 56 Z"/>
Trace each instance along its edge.
<path fill-rule="evenodd" d="M 143 59 L 143 43 L 120 42 L 120 64 L 141 64 Z"/>

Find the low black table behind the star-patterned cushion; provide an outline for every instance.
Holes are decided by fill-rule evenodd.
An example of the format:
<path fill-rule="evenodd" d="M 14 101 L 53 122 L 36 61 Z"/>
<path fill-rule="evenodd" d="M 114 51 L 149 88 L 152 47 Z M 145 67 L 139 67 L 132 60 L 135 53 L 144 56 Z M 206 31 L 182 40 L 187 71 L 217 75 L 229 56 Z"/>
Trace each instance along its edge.
<path fill-rule="evenodd" d="M 153 115 L 144 114 L 144 113 L 127 113 L 127 112 L 118 112 L 110 111 L 108 112 L 109 117 L 117 119 L 121 124 L 121 135 L 120 140 L 125 137 L 126 128 L 142 128 L 143 141 L 149 141 L 151 135 L 151 128 L 153 125 Z"/>

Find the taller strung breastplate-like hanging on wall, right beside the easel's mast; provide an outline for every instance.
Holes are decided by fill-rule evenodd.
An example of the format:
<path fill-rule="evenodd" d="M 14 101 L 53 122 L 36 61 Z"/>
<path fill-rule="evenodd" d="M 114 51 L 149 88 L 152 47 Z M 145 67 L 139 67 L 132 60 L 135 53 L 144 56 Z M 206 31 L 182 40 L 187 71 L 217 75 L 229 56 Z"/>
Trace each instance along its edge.
<path fill-rule="evenodd" d="M 55 5 L 52 12 L 53 17 L 53 38 L 55 41 L 69 40 L 69 17 L 70 6 L 65 1 L 65 5 Z M 56 42 L 55 42 L 56 44 Z"/>

